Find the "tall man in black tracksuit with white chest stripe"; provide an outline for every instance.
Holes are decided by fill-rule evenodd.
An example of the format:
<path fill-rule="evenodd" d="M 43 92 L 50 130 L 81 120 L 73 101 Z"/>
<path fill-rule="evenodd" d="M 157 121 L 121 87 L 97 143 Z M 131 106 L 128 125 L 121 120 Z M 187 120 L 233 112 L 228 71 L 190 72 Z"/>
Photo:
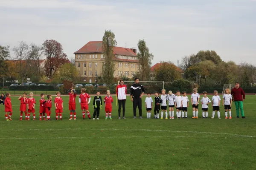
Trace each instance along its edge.
<path fill-rule="evenodd" d="M 142 93 L 141 93 L 142 91 Z M 139 79 L 134 79 L 134 84 L 131 86 L 131 102 L 133 102 L 134 108 L 134 119 L 136 119 L 137 106 L 139 108 L 140 119 L 142 119 L 142 100 L 143 94 L 145 93 L 145 88 L 143 85 L 139 84 Z"/>

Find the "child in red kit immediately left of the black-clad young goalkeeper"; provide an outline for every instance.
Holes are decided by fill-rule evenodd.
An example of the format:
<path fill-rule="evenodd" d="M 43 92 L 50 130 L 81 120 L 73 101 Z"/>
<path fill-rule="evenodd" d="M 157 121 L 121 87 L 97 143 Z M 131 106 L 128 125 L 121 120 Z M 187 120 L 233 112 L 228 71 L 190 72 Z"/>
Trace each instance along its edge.
<path fill-rule="evenodd" d="M 90 96 L 89 94 L 85 93 L 85 88 L 81 88 L 79 103 L 81 104 L 81 110 L 83 111 L 83 119 L 85 119 L 85 111 L 87 113 L 88 118 L 91 119 L 90 112 L 89 112 Z"/>

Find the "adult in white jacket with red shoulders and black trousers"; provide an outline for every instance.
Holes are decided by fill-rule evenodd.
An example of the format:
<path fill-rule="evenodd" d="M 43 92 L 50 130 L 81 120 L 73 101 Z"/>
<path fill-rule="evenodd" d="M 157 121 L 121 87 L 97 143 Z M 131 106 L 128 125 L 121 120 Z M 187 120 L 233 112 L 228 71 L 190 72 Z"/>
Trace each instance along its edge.
<path fill-rule="evenodd" d="M 125 102 L 126 102 L 127 87 L 124 85 L 124 80 L 120 79 L 120 84 L 116 86 L 116 96 L 118 99 L 118 119 L 121 119 L 121 108 L 123 107 L 123 119 L 125 119 Z"/>

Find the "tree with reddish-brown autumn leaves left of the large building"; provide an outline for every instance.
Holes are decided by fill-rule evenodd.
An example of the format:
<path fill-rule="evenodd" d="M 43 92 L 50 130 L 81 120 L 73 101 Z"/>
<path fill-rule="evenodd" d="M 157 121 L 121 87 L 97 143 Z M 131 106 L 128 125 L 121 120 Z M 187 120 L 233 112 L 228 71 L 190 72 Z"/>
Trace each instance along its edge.
<path fill-rule="evenodd" d="M 44 71 L 46 76 L 52 78 L 55 71 L 64 63 L 69 62 L 67 55 L 63 52 L 61 43 L 56 40 L 45 40 L 42 50 L 46 56 Z"/>

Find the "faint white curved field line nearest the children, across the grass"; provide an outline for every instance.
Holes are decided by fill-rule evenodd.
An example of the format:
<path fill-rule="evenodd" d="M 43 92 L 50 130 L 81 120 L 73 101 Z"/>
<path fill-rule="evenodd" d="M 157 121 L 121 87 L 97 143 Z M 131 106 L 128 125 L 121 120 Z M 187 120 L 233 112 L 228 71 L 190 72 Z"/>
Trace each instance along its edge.
<path fill-rule="evenodd" d="M 229 135 L 238 137 L 254 138 L 250 135 L 239 135 L 233 133 L 217 133 L 217 132 L 201 132 L 201 131 L 180 131 L 180 130 L 151 130 L 151 129 L 96 129 L 96 128 L 64 128 L 64 129 L 1 129 L 0 131 L 54 131 L 54 130 L 123 130 L 123 131 L 149 131 L 149 132 L 174 132 L 174 133 L 201 133 L 201 134 L 216 134 Z"/>

